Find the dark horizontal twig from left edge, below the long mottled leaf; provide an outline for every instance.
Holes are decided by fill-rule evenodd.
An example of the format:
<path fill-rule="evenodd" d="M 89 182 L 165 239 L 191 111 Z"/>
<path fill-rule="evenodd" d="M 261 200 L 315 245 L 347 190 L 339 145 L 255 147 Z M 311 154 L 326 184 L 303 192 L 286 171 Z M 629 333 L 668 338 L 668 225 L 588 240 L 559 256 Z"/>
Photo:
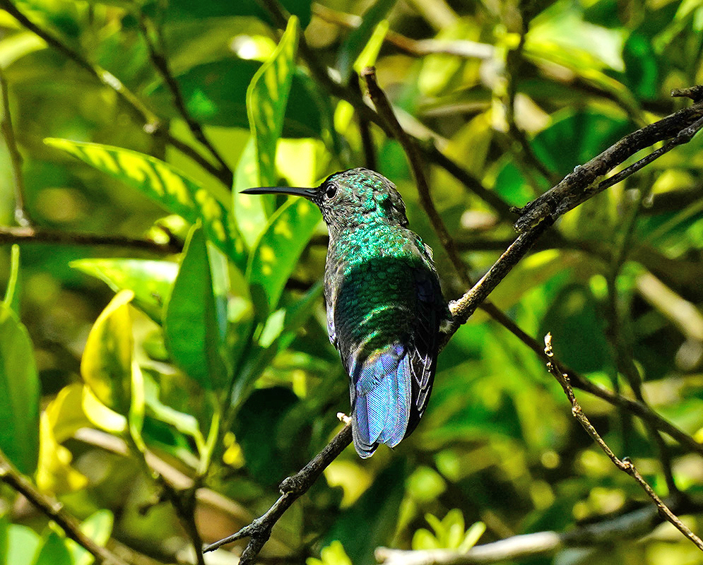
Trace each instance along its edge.
<path fill-rule="evenodd" d="M 6 243 L 40 243 L 78 246 L 110 246 L 127 249 L 143 249 L 159 255 L 180 253 L 182 245 L 172 240 L 162 244 L 150 239 L 138 239 L 126 235 L 100 235 L 77 232 L 58 232 L 42 227 L 1 227 L 0 244 Z"/>

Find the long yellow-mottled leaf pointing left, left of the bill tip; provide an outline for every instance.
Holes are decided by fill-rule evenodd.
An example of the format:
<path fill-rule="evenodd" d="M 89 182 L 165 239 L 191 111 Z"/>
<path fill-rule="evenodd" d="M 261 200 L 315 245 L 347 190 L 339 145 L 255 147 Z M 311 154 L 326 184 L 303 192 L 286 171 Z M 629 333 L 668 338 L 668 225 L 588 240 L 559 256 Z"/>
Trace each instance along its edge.
<path fill-rule="evenodd" d="M 192 224 L 201 220 L 208 239 L 235 264 L 242 262 L 242 244 L 237 243 L 236 235 L 232 234 L 234 228 L 230 223 L 230 213 L 222 203 L 224 200 L 218 199 L 228 198 L 225 194 L 211 194 L 182 172 L 151 155 L 68 139 L 47 138 L 44 143 L 133 186 Z"/>

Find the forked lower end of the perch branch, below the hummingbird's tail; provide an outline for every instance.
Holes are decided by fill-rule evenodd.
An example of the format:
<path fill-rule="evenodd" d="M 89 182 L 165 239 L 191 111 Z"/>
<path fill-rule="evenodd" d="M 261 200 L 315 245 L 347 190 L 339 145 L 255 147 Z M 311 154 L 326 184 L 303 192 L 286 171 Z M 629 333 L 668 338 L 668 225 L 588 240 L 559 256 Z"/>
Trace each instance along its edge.
<path fill-rule="evenodd" d="M 240 557 L 240 565 L 252 563 L 268 538 L 271 537 L 271 530 L 278 519 L 283 516 L 283 513 L 290 508 L 293 502 L 312 487 L 312 484 L 327 466 L 344 451 L 344 448 L 351 443 L 351 436 L 351 424 L 348 423 L 304 468 L 280 484 L 280 497 L 263 516 L 256 518 L 237 533 L 208 545 L 203 549 L 203 552 L 211 552 L 225 544 L 241 540 L 242 537 L 249 537 L 249 543 Z"/>

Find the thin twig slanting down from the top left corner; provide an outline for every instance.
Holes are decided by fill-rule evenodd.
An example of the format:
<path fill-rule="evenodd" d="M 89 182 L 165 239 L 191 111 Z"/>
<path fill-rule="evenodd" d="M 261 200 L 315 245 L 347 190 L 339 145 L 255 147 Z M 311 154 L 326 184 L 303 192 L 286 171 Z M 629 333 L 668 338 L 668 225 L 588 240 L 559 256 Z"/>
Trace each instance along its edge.
<path fill-rule="evenodd" d="M 71 47 L 64 44 L 64 42 L 61 42 L 61 40 L 59 40 L 58 37 L 53 35 L 52 32 L 40 28 L 39 25 L 35 24 L 32 20 L 25 16 L 24 13 L 19 11 L 18 8 L 11 2 L 11 0 L 0 0 L 0 8 L 3 8 L 6 12 L 8 12 L 25 28 L 41 37 L 42 40 L 45 40 L 45 42 L 47 42 L 47 44 L 49 44 L 51 47 L 54 47 L 54 49 L 56 49 L 58 52 L 64 54 L 64 56 L 66 56 L 68 59 L 71 59 L 71 61 L 81 67 L 81 69 L 88 71 L 88 73 L 90 73 L 90 75 L 92 75 L 94 78 L 98 79 L 98 81 L 100 81 L 102 85 L 105 85 L 107 86 L 107 88 L 114 90 L 114 93 L 117 94 L 117 97 L 119 97 L 120 100 L 125 102 L 127 107 L 131 109 L 131 112 L 134 114 L 136 119 L 143 122 L 143 130 L 146 133 L 163 138 L 165 141 L 167 141 L 167 143 L 170 143 L 179 151 L 181 151 L 184 155 L 187 155 L 192 160 L 194 160 L 194 162 L 203 167 L 203 169 L 213 175 L 213 177 L 220 180 L 220 182 L 223 182 L 225 186 L 231 186 L 231 183 L 228 184 L 227 182 L 226 174 L 223 175 L 223 173 L 220 172 L 218 167 L 215 167 L 213 163 L 206 159 L 206 157 L 203 157 L 203 155 L 201 155 L 190 145 L 180 140 L 179 138 L 173 136 L 161 122 L 159 117 L 154 114 L 150 109 L 148 109 L 148 107 L 146 107 L 146 105 L 141 100 L 139 100 L 139 98 L 134 93 L 132 93 L 131 90 L 129 90 L 129 88 L 127 88 L 122 83 L 122 81 L 119 80 L 119 78 L 110 73 L 110 71 L 106 71 L 105 69 L 102 69 L 102 67 L 88 62 L 88 60 L 85 59 L 81 54 L 71 49 Z"/>

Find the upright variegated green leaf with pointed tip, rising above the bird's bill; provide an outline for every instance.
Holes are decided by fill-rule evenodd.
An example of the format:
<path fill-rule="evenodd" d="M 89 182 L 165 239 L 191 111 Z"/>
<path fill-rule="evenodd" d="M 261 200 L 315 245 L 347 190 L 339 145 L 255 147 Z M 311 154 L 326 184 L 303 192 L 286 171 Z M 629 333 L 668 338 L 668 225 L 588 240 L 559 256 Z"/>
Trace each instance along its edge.
<path fill-rule="evenodd" d="M 276 186 L 276 142 L 283 131 L 283 116 L 295 72 L 298 19 L 288 20 L 276 51 L 252 78 L 247 89 L 247 114 L 254 136 L 260 186 Z"/>

